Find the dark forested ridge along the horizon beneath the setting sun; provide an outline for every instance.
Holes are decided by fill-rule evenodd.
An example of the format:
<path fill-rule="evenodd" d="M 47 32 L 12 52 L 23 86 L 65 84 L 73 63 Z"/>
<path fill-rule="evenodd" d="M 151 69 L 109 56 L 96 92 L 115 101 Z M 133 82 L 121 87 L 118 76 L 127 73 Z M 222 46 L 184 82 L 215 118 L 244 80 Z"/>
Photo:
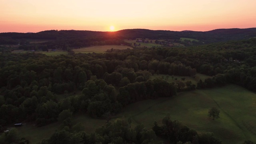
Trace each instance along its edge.
<path fill-rule="evenodd" d="M 117 39 L 174 39 L 193 38 L 204 43 L 224 42 L 228 40 L 242 40 L 256 37 L 256 28 L 232 28 L 217 29 L 208 32 L 196 31 L 169 31 L 169 30 L 147 30 L 147 29 L 127 29 L 117 32 L 96 32 L 88 30 L 47 30 L 38 33 L 0 33 L 0 44 L 16 44 L 18 39 L 47 39 L 57 40 L 65 38 L 117 38 Z"/>

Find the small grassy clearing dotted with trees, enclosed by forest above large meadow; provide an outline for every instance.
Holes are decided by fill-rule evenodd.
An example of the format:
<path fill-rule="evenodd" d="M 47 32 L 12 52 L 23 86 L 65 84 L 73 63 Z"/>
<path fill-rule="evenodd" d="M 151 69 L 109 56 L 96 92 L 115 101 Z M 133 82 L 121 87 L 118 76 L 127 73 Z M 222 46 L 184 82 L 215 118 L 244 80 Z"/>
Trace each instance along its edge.
<path fill-rule="evenodd" d="M 192 84 L 197 84 L 198 80 L 201 79 L 202 81 L 204 81 L 206 78 L 211 78 L 211 76 L 197 73 L 194 78 L 190 76 L 173 76 L 172 78 L 172 76 L 165 75 L 165 74 L 154 74 L 153 76 L 150 77 L 151 80 L 154 80 L 155 78 L 166 80 L 167 82 L 170 82 L 170 83 L 175 82 L 176 81 L 175 78 L 177 78 L 177 80 L 180 80 L 180 81 L 182 81 L 181 78 L 186 78 L 182 82 L 191 81 Z"/>

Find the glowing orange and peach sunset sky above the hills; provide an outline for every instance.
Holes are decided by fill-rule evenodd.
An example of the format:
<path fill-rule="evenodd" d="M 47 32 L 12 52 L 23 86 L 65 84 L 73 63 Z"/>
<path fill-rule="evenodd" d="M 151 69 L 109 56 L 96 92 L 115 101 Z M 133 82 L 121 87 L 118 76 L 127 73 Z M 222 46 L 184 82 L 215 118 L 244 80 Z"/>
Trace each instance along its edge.
<path fill-rule="evenodd" d="M 0 32 L 256 27 L 256 0 L 0 0 Z"/>

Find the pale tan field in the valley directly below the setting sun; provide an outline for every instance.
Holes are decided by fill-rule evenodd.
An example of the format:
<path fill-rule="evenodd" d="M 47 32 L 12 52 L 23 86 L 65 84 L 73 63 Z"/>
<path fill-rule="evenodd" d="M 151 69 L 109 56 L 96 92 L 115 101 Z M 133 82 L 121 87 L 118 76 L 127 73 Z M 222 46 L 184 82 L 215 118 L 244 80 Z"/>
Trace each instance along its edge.
<path fill-rule="evenodd" d="M 89 53 L 89 52 L 103 53 L 103 52 L 106 52 L 107 50 L 110 50 L 111 48 L 119 49 L 119 50 L 124 50 L 127 48 L 133 49 L 130 46 L 105 45 L 105 46 L 90 46 L 90 47 L 78 48 L 78 49 L 73 49 L 73 50 L 76 53 Z"/>

